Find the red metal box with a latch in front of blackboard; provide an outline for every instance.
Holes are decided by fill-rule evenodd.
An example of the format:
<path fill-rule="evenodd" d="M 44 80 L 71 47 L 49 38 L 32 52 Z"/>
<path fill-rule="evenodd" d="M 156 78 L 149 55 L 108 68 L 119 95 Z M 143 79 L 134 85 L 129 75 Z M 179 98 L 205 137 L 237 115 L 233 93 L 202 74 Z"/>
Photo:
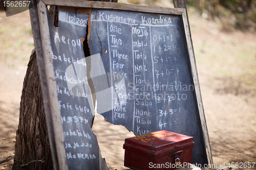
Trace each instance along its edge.
<path fill-rule="evenodd" d="M 132 169 L 174 169 L 191 162 L 193 137 L 157 131 L 126 138 L 124 166 Z"/>

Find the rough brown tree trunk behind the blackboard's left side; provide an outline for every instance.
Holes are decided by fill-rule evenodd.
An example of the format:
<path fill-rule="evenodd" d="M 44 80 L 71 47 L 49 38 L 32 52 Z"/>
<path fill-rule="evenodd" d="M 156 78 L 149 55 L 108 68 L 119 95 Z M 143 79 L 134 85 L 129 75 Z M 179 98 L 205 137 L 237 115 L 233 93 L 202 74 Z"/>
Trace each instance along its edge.
<path fill-rule="evenodd" d="M 58 27 L 58 8 L 51 7 L 49 14 L 54 26 Z M 23 83 L 13 169 L 25 164 L 23 167 L 28 169 L 53 169 L 35 50 L 31 53 Z"/>

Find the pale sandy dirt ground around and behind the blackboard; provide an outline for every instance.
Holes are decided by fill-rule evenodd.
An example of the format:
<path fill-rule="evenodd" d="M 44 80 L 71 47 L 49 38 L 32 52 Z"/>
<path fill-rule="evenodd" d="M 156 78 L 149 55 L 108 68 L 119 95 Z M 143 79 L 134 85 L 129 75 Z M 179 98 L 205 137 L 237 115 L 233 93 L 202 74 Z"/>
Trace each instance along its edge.
<path fill-rule="evenodd" d="M 214 163 L 256 162 L 256 33 L 222 31 L 220 20 L 203 19 L 189 8 L 203 106 Z M 29 12 L 0 11 L 0 169 L 11 169 L 19 102 L 33 49 Z M 123 166 L 122 126 L 95 117 L 102 157 L 110 169 Z M 253 169 L 256 169 L 254 165 Z"/>

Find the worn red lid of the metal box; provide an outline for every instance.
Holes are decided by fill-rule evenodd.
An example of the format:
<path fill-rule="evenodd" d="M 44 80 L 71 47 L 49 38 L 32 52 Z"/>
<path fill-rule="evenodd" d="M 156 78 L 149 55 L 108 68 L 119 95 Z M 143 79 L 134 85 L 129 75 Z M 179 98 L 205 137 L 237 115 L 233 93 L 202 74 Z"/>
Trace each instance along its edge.
<path fill-rule="evenodd" d="M 178 148 L 191 143 L 193 143 L 193 137 L 165 130 L 125 139 L 125 144 L 155 152 Z"/>

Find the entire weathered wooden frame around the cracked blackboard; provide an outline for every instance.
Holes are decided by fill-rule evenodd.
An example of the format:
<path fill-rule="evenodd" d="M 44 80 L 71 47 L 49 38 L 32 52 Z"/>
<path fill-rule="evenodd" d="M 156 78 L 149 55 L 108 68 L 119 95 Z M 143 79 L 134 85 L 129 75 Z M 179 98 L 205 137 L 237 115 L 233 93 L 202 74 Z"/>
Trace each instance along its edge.
<path fill-rule="evenodd" d="M 55 169 L 68 169 L 66 161 L 66 153 L 63 145 L 64 136 L 63 129 L 61 126 L 61 114 L 58 104 L 56 81 L 52 64 L 51 55 L 51 42 L 47 18 L 47 5 L 55 5 L 69 8 L 96 8 L 96 9 L 117 9 L 126 11 L 140 11 L 150 12 L 159 14 L 175 14 L 180 15 L 183 20 L 184 33 L 186 37 L 186 45 L 188 49 L 189 64 L 191 68 L 191 78 L 195 85 L 195 101 L 198 106 L 199 119 L 201 123 L 201 140 L 205 143 L 203 148 L 205 149 L 206 162 L 212 164 L 212 156 L 210 151 L 209 137 L 207 132 L 206 120 L 203 110 L 201 92 L 199 87 L 199 80 L 196 68 L 195 55 L 193 52 L 193 44 L 190 38 L 190 30 L 188 25 L 188 19 L 185 9 L 172 9 L 172 8 L 161 8 L 161 7 L 150 7 L 140 5 L 128 5 L 120 3 L 109 3 L 109 2 L 94 2 L 94 1 L 58 1 L 58 0 L 45 0 L 40 1 L 36 8 L 30 9 L 33 36 L 36 40 L 35 48 L 37 55 L 38 68 L 40 72 L 40 81 L 42 92 L 44 94 L 44 105 L 47 118 L 47 126 L 52 150 L 52 158 Z M 36 18 L 36 19 L 35 19 Z M 54 122 L 54 124 L 52 123 Z"/>

